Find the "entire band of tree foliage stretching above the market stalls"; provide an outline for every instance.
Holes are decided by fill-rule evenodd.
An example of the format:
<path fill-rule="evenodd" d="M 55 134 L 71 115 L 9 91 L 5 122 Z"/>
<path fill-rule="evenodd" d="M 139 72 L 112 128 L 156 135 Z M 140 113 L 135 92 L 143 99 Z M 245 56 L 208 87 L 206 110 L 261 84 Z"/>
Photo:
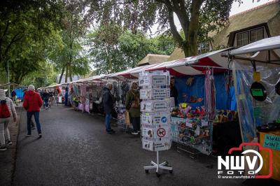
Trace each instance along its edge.
<path fill-rule="evenodd" d="M 0 71 L 10 82 L 54 83 L 54 74 L 85 76 L 134 67 L 149 53 L 186 57 L 228 23 L 241 0 L 2 0 Z M 181 31 L 174 24 L 179 17 Z M 158 35 L 151 28 L 158 25 Z M 50 71 L 45 76 L 44 69 Z M 4 77 L 3 77 L 4 78 Z M 45 78 L 45 80 L 41 79 Z M 7 79 L 5 79 L 7 81 Z M 6 82 L 5 82 L 6 83 Z"/>

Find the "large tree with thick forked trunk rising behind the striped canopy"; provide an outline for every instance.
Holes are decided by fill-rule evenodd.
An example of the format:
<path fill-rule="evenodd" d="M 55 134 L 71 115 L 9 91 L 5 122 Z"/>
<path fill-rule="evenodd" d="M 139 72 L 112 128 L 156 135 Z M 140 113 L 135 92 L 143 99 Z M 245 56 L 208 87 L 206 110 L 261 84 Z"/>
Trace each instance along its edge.
<path fill-rule="evenodd" d="M 155 23 L 167 27 L 186 57 L 197 55 L 197 43 L 209 31 L 221 29 L 227 22 L 233 1 L 241 0 L 102 0 L 91 1 L 90 11 L 101 24 L 114 20 L 132 29 L 148 30 Z M 179 17 L 183 36 L 174 23 Z"/>

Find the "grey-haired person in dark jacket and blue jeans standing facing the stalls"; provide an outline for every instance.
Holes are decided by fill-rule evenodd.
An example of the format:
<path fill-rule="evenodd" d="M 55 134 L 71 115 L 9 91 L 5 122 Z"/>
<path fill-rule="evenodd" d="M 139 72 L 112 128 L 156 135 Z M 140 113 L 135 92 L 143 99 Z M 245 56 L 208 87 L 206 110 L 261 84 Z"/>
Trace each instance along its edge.
<path fill-rule="evenodd" d="M 112 83 L 107 83 L 106 87 L 104 87 L 102 91 L 102 104 L 105 113 L 105 126 L 106 132 L 108 134 L 112 134 L 115 131 L 111 129 L 111 115 L 113 110 L 113 95 L 111 94 L 111 90 L 113 89 Z"/>

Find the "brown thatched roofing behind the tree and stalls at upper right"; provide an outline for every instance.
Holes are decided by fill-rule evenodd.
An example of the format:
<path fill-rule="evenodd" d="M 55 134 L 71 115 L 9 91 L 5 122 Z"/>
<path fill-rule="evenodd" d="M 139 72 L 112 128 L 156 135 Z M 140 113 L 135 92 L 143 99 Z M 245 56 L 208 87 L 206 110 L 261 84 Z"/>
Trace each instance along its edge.
<path fill-rule="evenodd" d="M 218 34 L 215 31 L 209 33 L 209 36 L 213 38 L 214 49 L 228 47 L 230 34 L 234 35 L 236 31 L 260 24 L 267 24 L 270 36 L 279 36 L 280 0 L 274 0 L 237 15 L 232 15 L 229 21 L 230 23 L 228 26 L 218 32 Z M 183 57 L 185 57 L 183 50 L 181 50 L 181 48 L 175 48 L 168 61 L 181 59 Z"/>

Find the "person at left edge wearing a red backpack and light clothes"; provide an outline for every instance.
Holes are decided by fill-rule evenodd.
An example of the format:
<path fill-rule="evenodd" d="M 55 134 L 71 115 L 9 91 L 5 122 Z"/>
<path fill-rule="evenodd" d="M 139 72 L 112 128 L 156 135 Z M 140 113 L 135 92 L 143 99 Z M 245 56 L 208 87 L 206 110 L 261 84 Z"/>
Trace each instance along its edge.
<path fill-rule="evenodd" d="M 17 120 L 17 112 L 15 111 L 15 106 L 13 101 L 6 97 L 5 91 L 0 89 L 0 150 L 7 150 L 6 145 L 12 145 L 10 141 L 10 131 L 8 129 L 9 122 L 13 119 L 15 122 Z M 6 133 L 6 141 L 5 141 Z"/>

